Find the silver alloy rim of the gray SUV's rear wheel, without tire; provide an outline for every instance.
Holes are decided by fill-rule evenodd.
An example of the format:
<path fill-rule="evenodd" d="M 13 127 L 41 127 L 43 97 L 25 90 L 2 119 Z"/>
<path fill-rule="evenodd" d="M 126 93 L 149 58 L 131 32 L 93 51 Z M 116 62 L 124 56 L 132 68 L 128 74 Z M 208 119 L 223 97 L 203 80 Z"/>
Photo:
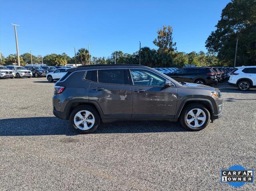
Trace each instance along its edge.
<path fill-rule="evenodd" d="M 89 130 L 95 123 L 95 117 L 87 110 L 81 110 L 75 114 L 74 124 L 81 130 Z"/>

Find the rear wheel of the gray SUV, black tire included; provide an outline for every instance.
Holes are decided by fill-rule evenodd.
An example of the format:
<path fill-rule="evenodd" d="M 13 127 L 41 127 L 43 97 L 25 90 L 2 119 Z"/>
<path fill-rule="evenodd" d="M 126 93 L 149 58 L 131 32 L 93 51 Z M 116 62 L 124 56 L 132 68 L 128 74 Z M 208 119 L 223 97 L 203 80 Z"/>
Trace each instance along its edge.
<path fill-rule="evenodd" d="M 84 116 L 85 118 L 83 118 L 83 120 L 80 120 L 81 118 L 78 117 L 77 115 L 78 113 L 81 114 L 81 117 Z M 88 118 L 86 118 L 86 114 L 87 115 L 89 114 Z M 93 119 L 94 119 L 94 123 L 87 122 L 89 120 L 93 121 Z M 75 125 L 75 121 L 77 122 L 83 121 L 84 123 L 82 122 L 77 126 Z M 88 134 L 88 133 L 94 132 L 98 128 L 100 124 L 100 115 L 97 112 L 97 110 L 95 110 L 95 108 L 91 106 L 78 106 L 71 112 L 69 122 L 71 127 L 73 127 L 78 133 Z M 85 129 L 83 129 L 83 127 L 85 127 Z"/>

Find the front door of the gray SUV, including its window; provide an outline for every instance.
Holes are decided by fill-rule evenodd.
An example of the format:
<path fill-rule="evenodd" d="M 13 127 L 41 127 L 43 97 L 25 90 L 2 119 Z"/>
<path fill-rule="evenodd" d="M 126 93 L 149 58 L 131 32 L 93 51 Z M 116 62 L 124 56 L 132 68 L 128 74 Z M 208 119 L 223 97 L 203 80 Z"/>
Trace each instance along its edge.
<path fill-rule="evenodd" d="M 144 69 L 130 69 L 143 73 L 139 80 L 133 78 L 131 93 L 133 98 L 132 118 L 172 118 L 177 106 L 177 88 L 165 87 L 165 79 Z"/>

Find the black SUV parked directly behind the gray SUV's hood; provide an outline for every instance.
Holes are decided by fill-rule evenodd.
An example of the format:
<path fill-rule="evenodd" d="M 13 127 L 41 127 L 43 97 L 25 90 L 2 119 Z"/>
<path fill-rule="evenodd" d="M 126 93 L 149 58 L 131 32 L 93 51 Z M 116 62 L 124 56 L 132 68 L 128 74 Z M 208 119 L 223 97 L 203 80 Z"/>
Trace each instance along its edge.
<path fill-rule="evenodd" d="M 218 83 L 217 75 L 210 67 L 185 67 L 167 75 L 178 82 L 191 82 L 202 85 Z"/>

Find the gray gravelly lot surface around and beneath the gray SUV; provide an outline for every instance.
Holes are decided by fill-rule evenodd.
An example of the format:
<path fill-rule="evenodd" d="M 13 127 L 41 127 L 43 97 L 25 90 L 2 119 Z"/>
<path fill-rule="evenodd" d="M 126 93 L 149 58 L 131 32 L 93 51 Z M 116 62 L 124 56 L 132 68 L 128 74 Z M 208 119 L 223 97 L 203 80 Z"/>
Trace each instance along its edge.
<path fill-rule="evenodd" d="M 220 169 L 256 169 L 256 89 L 216 85 L 223 117 L 200 132 L 165 121 L 114 122 L 78 135 L 52 114 L 54 83 L 0 80 L 0 190 L 256 190 Z"/>

